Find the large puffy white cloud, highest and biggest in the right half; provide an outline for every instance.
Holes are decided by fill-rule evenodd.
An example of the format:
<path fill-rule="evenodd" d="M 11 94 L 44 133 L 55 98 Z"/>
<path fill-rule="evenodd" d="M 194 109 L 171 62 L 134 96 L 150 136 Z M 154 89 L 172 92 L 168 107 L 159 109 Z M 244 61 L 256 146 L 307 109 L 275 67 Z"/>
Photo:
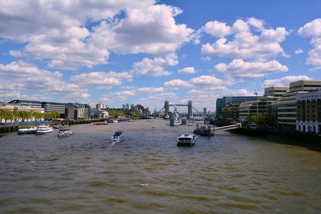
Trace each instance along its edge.
<path fill-rule="evenodd" d="M 213 44 L 202 44 L 201 51 L 203 54 L 228 58 L 259 58 L 285 54 L 280 43 L 290 33 L 283 27 L 265 29 L 263 24 L 262 20 L 255 18 L 248 21 L 238 19 L 233 26 L 210 21 L 203 26 L 203 30 L 219 39 Z M 260 35 L 252 34 L 250 26 L 259 31 Z M 225 38 L 228 35 L 233 35 L 233 39 L 228 41 Z"/>

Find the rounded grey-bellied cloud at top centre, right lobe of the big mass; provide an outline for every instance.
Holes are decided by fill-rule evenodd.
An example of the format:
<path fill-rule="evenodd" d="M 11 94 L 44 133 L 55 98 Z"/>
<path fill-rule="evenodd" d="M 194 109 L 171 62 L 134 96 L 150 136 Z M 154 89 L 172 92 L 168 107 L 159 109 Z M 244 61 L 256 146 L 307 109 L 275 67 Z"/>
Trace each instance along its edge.
<path fill-rule="evenodd" d="M 126 8 L 126 18 L 117 24 L 102 21 L 94 29 L 93 41 L 114 52 L 165 54 L 190 41 L 193 29 L 175 24 L 182 11 L 165 4 Z"/>

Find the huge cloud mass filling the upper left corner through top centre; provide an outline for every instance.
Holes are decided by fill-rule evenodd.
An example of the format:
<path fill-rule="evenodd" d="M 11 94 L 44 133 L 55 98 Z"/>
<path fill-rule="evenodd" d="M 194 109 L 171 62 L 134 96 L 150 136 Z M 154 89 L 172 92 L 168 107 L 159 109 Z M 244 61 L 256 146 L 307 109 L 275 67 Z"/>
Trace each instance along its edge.
<path fill-rule="evenodd" d="M 175 23 L 181 12 L 152 0 L 2 1 L 0 37 L 26 43 L 11 56 L 43 60 L 49 68 L 91 68 L 107 63 L 111 52 L 176 51 L 193 33 Z"/>

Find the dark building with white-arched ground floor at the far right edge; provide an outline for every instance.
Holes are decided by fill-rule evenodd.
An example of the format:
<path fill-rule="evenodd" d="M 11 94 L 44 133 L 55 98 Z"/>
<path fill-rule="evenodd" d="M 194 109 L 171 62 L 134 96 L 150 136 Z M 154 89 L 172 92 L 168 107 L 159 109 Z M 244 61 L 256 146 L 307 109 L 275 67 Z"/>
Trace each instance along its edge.
<path fill-rule="evenodd" d="M 297 131 L 320 133 L 321 128 L 321 89 L 299 93 L 297 102 Z"/>

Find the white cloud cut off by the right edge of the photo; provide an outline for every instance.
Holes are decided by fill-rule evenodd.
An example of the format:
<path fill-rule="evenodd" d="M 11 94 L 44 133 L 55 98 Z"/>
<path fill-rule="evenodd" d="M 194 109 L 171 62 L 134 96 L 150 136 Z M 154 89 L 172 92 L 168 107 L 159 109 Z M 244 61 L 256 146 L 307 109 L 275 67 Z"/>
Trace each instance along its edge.
<path fill-rule="evenodd" d="M 312 66 L 321 66 L 321 19 L 315 19 L 297 31 L 301 36 L 312 37 L 310 43 L 313 49 L 309 51 L 306 63 Z"/>

